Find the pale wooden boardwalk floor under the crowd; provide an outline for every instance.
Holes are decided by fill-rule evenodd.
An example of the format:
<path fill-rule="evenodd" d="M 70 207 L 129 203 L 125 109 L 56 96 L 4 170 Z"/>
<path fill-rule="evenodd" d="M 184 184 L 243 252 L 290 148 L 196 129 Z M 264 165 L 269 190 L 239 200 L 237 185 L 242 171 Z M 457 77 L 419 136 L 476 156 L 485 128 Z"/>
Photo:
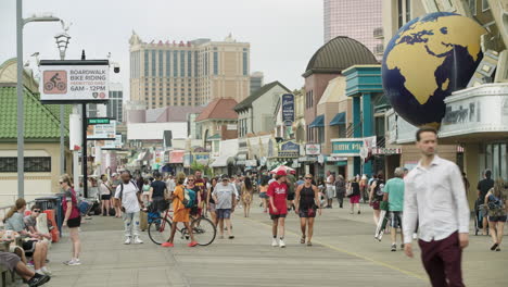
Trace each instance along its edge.
<path fill-rule="evenodd" d="M 323 210 L 313 247 L 300 245 L 292 214 L 285 249 L 270 247 L 266 214 L 257 208 L 250 219 L 240 213 L 233 219 L 236 239 L 193 249 L 177 241 L 170 250 L 153 245 L 147 234 L 143 245 L 124 246 L 122 221 L 94 216 L 82 225 L 81 266 L 60 264 L 68 259 L 68 238 L 53 245 L 48 286 L 429 286 L 419 259 L 390 252 L 389 238 L 373 241 L 369 210 L 361 215 Z M 463 264 L 468 286 L 508 286 L 508 249 L 488 247 L 486 237 L 471 236 Z"/>

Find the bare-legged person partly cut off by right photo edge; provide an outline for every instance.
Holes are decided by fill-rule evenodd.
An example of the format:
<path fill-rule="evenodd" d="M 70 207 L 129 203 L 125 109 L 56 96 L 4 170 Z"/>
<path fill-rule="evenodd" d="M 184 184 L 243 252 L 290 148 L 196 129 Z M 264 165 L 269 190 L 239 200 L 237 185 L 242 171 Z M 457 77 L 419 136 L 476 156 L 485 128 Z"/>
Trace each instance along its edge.
<path fill-rule="evenodd" d="M 506 215 L 508 212 L 508 186 L 503 178 L 497 178 L 494 187 L 485 196 L 485 205 L 488 208 L 488 230 L 494 245 L 492 251 L 500 251 Z"/>

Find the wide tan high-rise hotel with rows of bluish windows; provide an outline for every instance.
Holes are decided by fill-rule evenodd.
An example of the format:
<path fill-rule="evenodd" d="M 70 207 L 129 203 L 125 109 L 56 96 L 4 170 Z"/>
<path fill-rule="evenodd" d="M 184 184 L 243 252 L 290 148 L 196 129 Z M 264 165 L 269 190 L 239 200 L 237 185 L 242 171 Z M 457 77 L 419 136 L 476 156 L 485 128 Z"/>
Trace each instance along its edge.
<path fill-rule="evenodd" d="M 149 109 L 249 96 L 250 43 L 231 35 L 224 41 L 143 42 L 132 33 L 129 43 L 130 100 Z"/>

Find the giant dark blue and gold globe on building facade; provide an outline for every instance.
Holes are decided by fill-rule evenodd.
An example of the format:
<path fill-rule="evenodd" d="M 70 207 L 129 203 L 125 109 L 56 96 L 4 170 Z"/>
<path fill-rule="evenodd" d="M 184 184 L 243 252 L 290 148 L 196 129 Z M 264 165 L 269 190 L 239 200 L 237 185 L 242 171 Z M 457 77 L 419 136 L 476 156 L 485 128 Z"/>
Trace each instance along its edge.
<path fill-rule="evenodd" d="M 445 97 L 463 89 L 483 54 L 486 30 L 469 17 L 436 12 L 404 25 L 386 46 L 382 77 L 395 112 L 415 126 L 439 127 Z"/>

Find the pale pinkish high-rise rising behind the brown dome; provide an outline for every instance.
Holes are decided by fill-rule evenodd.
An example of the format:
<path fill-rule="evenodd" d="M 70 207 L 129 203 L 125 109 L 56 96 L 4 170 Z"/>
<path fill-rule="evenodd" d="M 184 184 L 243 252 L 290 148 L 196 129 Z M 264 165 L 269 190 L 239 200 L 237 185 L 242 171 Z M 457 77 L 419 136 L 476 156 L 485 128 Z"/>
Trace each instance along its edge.
<path fill-rule="evenodd" d="M 382 27 L 383 0 L 323 0 L 325 42 L 336 36 L 353 38 L 382 57 L 382 41 L 374 38 L 376 28 Z M 377 51 L 378 50 L 378 51 Z"/>

